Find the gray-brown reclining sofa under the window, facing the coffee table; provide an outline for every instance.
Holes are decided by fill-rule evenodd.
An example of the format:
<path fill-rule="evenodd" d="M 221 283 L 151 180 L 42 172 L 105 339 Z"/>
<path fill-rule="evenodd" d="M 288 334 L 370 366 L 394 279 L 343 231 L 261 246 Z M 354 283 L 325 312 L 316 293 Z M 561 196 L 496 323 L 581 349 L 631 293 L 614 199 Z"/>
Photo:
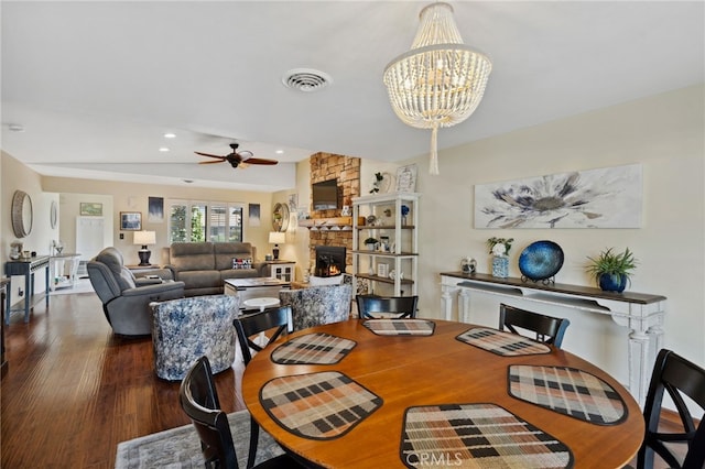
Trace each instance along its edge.
<path fill-rule="evenodd" d="M 251 260 L 249 269 L 232 269 L 234 260 Z M 184 294 L 219 295 L 226 279 L 269 276 L 268 264 L 257 261 L 249 242 L 173 242 L 169 264 L 175 281 L 184 282 Z"/>

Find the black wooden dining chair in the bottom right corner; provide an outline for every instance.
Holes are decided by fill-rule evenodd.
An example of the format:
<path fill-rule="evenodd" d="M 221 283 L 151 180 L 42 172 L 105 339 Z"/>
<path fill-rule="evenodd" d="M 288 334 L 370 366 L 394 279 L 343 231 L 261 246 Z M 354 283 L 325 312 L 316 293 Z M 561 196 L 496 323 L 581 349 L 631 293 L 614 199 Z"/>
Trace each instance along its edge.
<path fill-rule="evenodd" d="M 683 433 L 659 432 L 664 391 L 668 391 L 679 412 Z M 643 407 L 647 428 L 643 444 L 637 456 L 638 469 L 653 468 L 654 452 L 663 458 L 670 468 L 703 469 L 705 467 L 705 423 L 701 418 L 697 427 L 695 426 L 683 395 L 705 411 L 705 370 L 671 350 L 662 349 L 653 366 Z M 687 444 L 687 452 L 682 463 L 666 444 Z"/>

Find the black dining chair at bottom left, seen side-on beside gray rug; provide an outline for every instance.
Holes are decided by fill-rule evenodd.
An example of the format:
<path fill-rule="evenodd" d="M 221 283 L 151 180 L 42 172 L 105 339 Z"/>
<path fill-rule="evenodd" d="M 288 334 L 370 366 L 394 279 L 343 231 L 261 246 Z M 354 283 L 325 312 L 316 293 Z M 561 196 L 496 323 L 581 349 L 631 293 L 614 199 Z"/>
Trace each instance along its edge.
<path fill-rule="evenodd" d="M 208 357 L 197 359 L 187 371 L 181 383 L 178 396 L 182 408 L 198 433 L 206 468 L 238 469 L 230 424 L 226 413 L 220 410 Z M 254 463 L 251 456 L 248 455 L 248 468 Z M 288 455 L 276 456 L 257 466 L 259 469 L 291 467 L 299 465 Z"/>

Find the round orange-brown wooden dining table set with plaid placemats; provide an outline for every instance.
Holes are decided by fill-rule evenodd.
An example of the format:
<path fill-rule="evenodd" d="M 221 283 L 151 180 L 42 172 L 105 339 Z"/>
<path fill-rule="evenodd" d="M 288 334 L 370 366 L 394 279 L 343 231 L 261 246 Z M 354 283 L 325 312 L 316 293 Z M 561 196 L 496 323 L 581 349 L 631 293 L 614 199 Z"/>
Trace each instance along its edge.
<path fill-rule="evenodd" d="M 408 459 L 401 450 L 405 425 L 411 422 L 410 408 L 457 404 L 491 404 L 550 435 L 570 448 L 571 460 L 565 467 L 621 468 L 637 454 L 644 433 L 641 410 L 631 394 L 598 367 L 553 346 L 541 353 L 497 355 L 458 339 L 469 329 L 481 326 L 436 319 L 424 321 L 433 327 L 431 335 L 376 334 L 365 320 L 350 319 L 280 338 L 247 366 L 242 378 L 245 403 L 261 428 L 284 449 L 318 467 L 459 467 L 454 458 Z M 330 364 L 274 361 L 282 345 L 314 337 L 312 335 L 347 339 L 350 350 Z M 565 368 L 596 377 L 618 394 L 615 399 L 623 403 L 623 415 L 609 424 L 586 422 L 510 395 L 509 371 L 517 369 L 514 367 Z M 326 372 L 341 373 L 378 396 L 377 407 L 345 433 L 329 438 L 306 436 L 306 429 L 284 428 L 281 421 L 273 418 L 276 410 L 264 408 L 264 391 L 279 381 Z M 345 392 L 341 391 L 341 399 Z M 279 411 L 283 410 L 282 421 L 293 412 L 293 407 L 284 403 L 279 406 Z M 477 466 L 471 463 L 467 467 L 482 467 L 481 459 L 475 462 Z"/>

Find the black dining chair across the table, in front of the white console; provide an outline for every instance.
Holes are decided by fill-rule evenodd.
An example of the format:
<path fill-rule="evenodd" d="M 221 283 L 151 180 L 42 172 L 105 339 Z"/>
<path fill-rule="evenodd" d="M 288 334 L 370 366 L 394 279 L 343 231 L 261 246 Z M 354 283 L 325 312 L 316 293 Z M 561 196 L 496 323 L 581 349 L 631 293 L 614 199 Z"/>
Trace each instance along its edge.
<path fill-rule="evenodd" d="M 563 335 L 571 321 L 565 318 L 545 316 L 527 309 L 501 303 L 499 305 L 499 329 L 508 329 L 512 334 L 521 335 L 519 329 L 535 334 L 535 339 L 544 343 L 552 343 L 561 348 Z"/>

